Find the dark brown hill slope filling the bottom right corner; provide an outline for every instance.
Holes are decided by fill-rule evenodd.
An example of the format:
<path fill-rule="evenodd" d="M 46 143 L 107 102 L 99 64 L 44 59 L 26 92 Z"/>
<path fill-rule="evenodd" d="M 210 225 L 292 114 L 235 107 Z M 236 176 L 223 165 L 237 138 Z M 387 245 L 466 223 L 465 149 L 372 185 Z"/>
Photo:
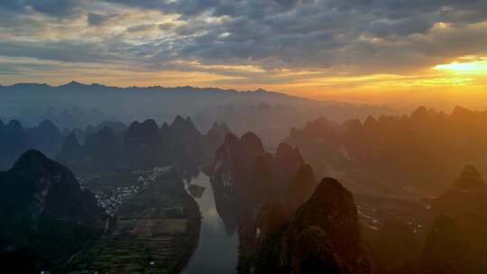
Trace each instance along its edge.
<path fill-rule="evenodd" d="M 432 224 L 421 251 L 391 273 L 487 273 L 487 185 L 477 169 L 465 166 L 452 186 L 433 201 L 427 215 Z M 400 242 L 386 245 L 394 243 Z M 396 259 L 412 251 L 410 244 L 394 248 L 402 250 L 395 252 Z"/>

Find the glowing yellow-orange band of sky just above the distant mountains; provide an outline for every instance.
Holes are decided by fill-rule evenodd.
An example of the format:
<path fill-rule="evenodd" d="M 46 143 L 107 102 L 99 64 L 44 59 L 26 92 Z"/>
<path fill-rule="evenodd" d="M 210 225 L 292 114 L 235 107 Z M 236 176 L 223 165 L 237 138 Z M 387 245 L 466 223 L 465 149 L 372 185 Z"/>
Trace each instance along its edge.
<path fill-rule="evenodd" d="M 0 58 L 0 64 L 3 59 Z M 10 59 L 15 63 L 37 63 L 36 59 Z M 44 63 L 46 63 L 44 61 Z M 264 88 L 318 100 L 336 100 L 379 105 L 431 105 L 451 107 L 458 104 L 487 108 L 487 57 L 465 56 L 432 65 L 416 73 L 352 74 L 319 69 L 266 70 L 258 65 L 207 65 L 197 61 L 179 61 L 188 70 L 124 70 L 117 66 L 98 67 L 58 61 L 47 62 L 63 68 L 57 73 L 39 71 L 31 82 L 61 85 L 71 80 L 117 87 L 221 87 L 239 90 Z M 93 73 L 96 71 L 96 73 Z M 78 75 L 78 78 L 72 78 Z M 10 78 L 14 84 L 21 82 Z M 446 103 L 445 103 L 446 102 Z"/>

